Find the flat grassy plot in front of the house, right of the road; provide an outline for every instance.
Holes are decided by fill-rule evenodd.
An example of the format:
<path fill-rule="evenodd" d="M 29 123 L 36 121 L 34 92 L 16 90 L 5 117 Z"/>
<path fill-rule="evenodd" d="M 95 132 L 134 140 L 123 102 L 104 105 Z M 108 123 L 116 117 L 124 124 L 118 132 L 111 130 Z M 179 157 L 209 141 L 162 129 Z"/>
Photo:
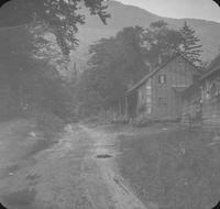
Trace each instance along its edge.
<path fill-rule="evenodd" d="M 143 131 L 142 131 L 143 132 Z M 220 198 L 220 144 L 205 130 L 120 135 L 122 175 L 145 201 L 207 209 Z"/>

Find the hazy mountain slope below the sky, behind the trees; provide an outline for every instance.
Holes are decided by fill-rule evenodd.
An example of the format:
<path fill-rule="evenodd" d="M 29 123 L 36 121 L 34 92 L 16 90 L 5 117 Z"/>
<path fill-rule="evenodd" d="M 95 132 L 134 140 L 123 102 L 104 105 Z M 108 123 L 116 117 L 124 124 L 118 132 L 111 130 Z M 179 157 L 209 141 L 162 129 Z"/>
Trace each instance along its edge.
<path fill-rule="evenodd" d="M 124 6 L 117 1 L 109 2 L 108 11 L 111 14 L 111 19 L 108 20 L 108 25 L 103 25 L 98 16 L 90 16 L 88 11 L 84 11 L 87 16 L 87 23 L 79 30 L 78 37 L 80 45 L 73 53 L 73 59 L 80 65 L 79 68 L 84 69 L 86 67 L 88 47 L 91 43 L 101 37 L 112 36 L 125 26 L 140 25 L 147 28 L 151 22 L 157 20 L 166 21 L 173 29 L 182 28 L 184 21 L 187 21 L 196 30 L 197 35 L 204 44 L 204 61 L 211 61 L 218 53 L 220 45 L 220 23 L 195 19 L 162 18 L 138 7 Z"/>

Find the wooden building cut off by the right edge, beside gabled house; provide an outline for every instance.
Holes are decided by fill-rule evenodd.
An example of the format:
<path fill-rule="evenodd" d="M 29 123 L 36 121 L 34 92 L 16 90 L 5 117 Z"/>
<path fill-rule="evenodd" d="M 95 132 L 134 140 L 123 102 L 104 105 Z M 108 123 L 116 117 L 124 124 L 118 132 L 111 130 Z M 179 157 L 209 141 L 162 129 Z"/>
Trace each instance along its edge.
<path fill-rule="evenodd" d="M 191 120 L 206 127 L 220 125 L 220 55 L 198 82 L 183 94 L 183 122 Z"/>

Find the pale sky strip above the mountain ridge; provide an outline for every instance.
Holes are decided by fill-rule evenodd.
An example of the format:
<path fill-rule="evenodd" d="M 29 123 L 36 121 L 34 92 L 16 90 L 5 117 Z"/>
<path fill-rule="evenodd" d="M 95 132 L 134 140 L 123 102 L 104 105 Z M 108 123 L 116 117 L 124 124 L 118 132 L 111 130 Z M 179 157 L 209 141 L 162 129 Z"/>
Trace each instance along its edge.
<path fill-rule="evenodd" d="M 220 8 L 212 0 L 117 0 L 168 18 L 195 18 L 220 22 Z"/>

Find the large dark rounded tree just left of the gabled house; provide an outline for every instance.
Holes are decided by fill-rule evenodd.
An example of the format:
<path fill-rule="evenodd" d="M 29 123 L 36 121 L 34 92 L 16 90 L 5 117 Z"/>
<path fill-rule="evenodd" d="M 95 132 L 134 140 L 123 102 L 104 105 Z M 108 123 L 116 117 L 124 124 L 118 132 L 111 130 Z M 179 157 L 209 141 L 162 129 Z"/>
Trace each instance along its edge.
<path fill-rule="evenodd" d="M 78 84 L 85 112 L 107 108 L 128 90 L 129 84 L 148 73 L 142 35 L 142 28 L 125 28 L 116 37 L 102 38 L 90 46 L 89 68 Z"/>

